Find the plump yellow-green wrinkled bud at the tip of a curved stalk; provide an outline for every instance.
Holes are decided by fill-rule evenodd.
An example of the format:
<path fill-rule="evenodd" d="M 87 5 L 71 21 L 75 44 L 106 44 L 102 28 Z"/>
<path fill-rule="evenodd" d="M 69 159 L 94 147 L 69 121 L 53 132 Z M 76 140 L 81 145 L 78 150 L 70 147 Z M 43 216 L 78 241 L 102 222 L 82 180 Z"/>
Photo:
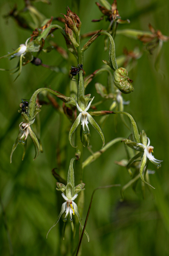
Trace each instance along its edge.
<path fill-rule="evenodd" d="M 119 68 L 114 72 L 113 75 L 115 86 L 122 92 L 122 93 L 131 93 L 134 91 L 132 86 L 132 80 L 128 77 L 127 70 L 124 68 Z"/>

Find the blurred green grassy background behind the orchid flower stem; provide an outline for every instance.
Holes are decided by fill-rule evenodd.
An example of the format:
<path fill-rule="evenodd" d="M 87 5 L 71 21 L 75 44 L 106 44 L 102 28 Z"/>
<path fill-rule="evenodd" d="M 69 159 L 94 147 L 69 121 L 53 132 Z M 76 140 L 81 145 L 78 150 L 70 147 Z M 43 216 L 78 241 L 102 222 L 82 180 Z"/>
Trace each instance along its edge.
<path fill-rule="evenodd" d="M 18 9 L 24 7 L 21 0 L 0 2 L 0 56 L 12 52 L 18 48 L 32 34 L 24 30 L 9 18 L 8 22 L 3 15 L 9 13 L 17 2 Z M 77 15 L 82 22 L 81 34 L 101 28 L 106 29 L 105 19 L 100 23 L 91 23 L 92 19 L 98 19 L 101 12 L 94 0 L 81 0 Z M 109 1 L 110 2 L 110 1 Z M 111 3 L 111 2 L 110 2 Z M 66 13 L 65 7 L 77 10 L 76 1 L 54 1 L 51 5 L 36 3 L 36 8 L 47 18 L 61 16 Z M 129 18 L 130 24 L 119 25 L 118 29 L 138 29 L 148 31 L 149 23 L 159 29 L 163 35 L 169 35 L 167 0 L 118 0 L 118 9 L 122 19 Z M 59 24 L 59 23 L 58 23 Z M 60 25 L 60 24 L 59 24 Z M 62 25 L 61 25 L 62 26 Z M 63 36 L 55 31 L 53 41 L 66 49 Z M 86 40 L 82 42 L 85 44 Z M 116 55 L 123 54 L 124 47 L 133 50 L 135 46 L 143 49 L 143 44 L 122 35 L 115 39 Z M 82 241 L 82 255 L 169 255 L 169 174 L 168 174 L 168 143 L 169 143 L 169 48 L 168 42 L 164 42 L 160 57 L 160 70 L 162 76 L 154 68 L 155 53 L 150 55 L 143 51 L 143 56 L 137 60 L 137 65 L 129 73 L 133 80 L 134 92 L 124 95 L 130 104 L 125 106 L 125 111 L 130 113 L 137 122 L 139 131 L 145 130 L 154 146 L 154 156 L 163 160 L 162 166 L 150 176 L 150 183 L 156 188 L 153 190 L 146 186 L 146 198 L 143 199 L 140 181 L 136 193 L 129 187 L 125 191 L 125 200 L 120 202 L 120 188 L 107 188 L 97 190 L 92 203 L 91 213 L 87 224 L 87 232 L 90 243 L 84 237 Z M 73 55 L 69 54 L 69 60 L 63 60 L 58 52 L 52 51 L 40 56 L 43 63 L 58 67 L 66 67 L 67 73 L 52 72 L 43 67 L 35 67 L 31 63 L 22 69 L 22 73 L 15 81 L 16 74 L 1 72 L 0 94 L 0 141 L 1 141 L 1 176 L 0 176 L 0 254 L 6 255 L 71 255 L 70 247 L 77 244 L 78 226 L 74 242 L 71 240 L 71 228 L 68 222 L 65 241 L 62 239 L 62 220 L 53 228 L 46 240 L 46 233 L 57 219 L 61 209 L 61 193 L 55 190 L 56 180 L 51 170 L 57 167 L 57 172 L 67 178 L 69 161 L 74 156 L 74 149 L 68 142 L 68 132 L 71 123 L 66 117 L 61 116 L 51 105 L 43 105 L 40 113 L 41 141 L 44 153 L 33 161 L 34 146 L 28 141 L 26 155 L 23 161 L 23 146 L 18 145 L 10 164 L 9 158 L 12 145 L 18 134 L 18 125 L 22 121 L 18 113 L 21 99 L 30 99 L 35 90 L 41 87 L 49 87 L 68 95 L 69 93 L 69 69 L 76 66 Z M 102 65 L 102 59 L 108 60 L 108 53 L 104 52 L 104 37 L 100 36 L 87 50 L 84 60 L 86 74 L 93 73 Z M 0 68 L 11 69 L 15 67 L 17 60 L 0 60 Z M 96 93 L 95 82 L 106 83 L 106 75 L 97 76 L 89 84 L 86 93 L 95 96 L 95 102 L 100 100 Z M 69 95 L 68 95 L 69 96 Z M 60 105 L 62 102 L 58 100 Z M 98 107 L 98 110 L 108 110 L 110 102 Z M 100 118 L 95 118 L 99 122 Z M 115 119 L 109 116 L 102 127 L 106 143 L 116 137 L 129 136 L 129 131 L 118 117 L 117 129 Z M 65 129 L 63 130 L 63 125 Z M 60 132 L 62 132 L 60 136 Z M 63 137 L 62 137 L 63 136 Z M 61 148 L 62 144 L 62 148 Z M 92 150 L 101 148 L 99 135 L 91 128 Z M 63 161 L 59 162 L 58 150 L 63 150 Z M 84 149 L 84 159 L 90 155 L 87 148 Z M 124 167 L 115 164 L 126 158 L 122 143 L 110 147 L 97 161 L 84 169 L 83 182 L 86 183 L 85 208 L 82 222 L 85 222 L 87 210 L 93 190 L 98 186 L 120 183 L 125 185 L 129 180 L 129 174 Z M 75 184 L 77 185 L 77 184 Z M 3 210 L 4 208 L 4 210 Z M 6 228 L 7 225 L 7 228 Z M 9 233 L 7 232 L 7 229 Z M 9 236 L 11 238 L 13 254 L 9 249 Z"/>

